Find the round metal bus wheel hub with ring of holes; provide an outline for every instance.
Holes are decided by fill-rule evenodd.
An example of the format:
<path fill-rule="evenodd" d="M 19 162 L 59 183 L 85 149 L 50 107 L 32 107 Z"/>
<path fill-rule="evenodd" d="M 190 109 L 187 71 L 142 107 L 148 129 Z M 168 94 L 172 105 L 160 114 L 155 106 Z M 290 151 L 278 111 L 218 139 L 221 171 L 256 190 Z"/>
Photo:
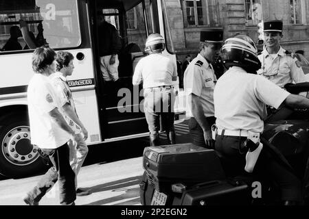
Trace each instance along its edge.
<path fill-rule="evenodd" d="M 38 159 L 38 150 L 30 140 L 29 127 L 15 127 L 8 131 L 2 142 L 2 152 L 8 162 L 14 165 L 28 165 Z"/>

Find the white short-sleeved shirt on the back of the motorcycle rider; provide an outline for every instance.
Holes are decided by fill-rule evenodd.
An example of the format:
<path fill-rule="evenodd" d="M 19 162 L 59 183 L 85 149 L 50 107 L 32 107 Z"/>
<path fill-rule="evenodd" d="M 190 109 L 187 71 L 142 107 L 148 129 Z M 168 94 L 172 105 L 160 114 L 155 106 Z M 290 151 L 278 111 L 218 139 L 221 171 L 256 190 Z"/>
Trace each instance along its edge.
<path fill-rule="evenodd" d="M 214 90 L 216 125 L 262 133 L 266 105 L 277 109 L 289 94 L 268 79 L 233 66 L 218 79 Z"/>

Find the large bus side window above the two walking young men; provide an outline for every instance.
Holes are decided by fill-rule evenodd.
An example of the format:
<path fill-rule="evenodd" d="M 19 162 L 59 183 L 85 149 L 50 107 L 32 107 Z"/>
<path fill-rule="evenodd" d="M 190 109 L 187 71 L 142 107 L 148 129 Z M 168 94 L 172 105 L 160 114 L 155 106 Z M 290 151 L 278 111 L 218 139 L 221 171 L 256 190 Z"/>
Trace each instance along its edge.
<path fill-rule="evenodd" d="M 21 0 L 8 2 L 0 0 L 2 51 L 35 49 L 45 44 L 53 49 L 78 47 L 80 44 L 77 1 L 32 0 L 27 1 L 27 4 Z M 19 29 L 23 34 L 19 33 Z M 10 47 L 5 46 L 8 42 Z"/>

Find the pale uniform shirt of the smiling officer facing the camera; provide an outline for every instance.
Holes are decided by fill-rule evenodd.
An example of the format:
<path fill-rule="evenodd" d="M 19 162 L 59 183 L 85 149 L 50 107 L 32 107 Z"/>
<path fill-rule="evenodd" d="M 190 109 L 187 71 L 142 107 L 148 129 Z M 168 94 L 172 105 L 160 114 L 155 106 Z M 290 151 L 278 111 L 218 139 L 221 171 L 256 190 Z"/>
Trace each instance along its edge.
<path fill-rule="evenodd" d="M 275 59 L 271 57 L 266 49 L 259 55 L 262 68 L 258 70 L 258 75 L 263 75 L 277 86 L 284 88 L 286 83 L 306 82 L 304 71 L 296 65 L 295 60 L 280 47 Z"/>

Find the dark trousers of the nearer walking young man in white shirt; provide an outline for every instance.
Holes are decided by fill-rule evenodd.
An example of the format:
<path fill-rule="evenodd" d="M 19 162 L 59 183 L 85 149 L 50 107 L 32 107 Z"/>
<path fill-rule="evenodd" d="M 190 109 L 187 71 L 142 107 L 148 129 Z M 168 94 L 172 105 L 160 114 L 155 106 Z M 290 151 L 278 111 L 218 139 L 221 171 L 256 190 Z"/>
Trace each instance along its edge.
<path fill-rule="evenodd" d="M 65 143 L 57 149 L 41 149 L 41 151 L 49 156 L 53 167 L 49 168 L 36 186 L 27 194 L 32 200 L 39 202 L 58 181 L 60 204 L 70 205 L 76 200 L 76 188 L 75 173 L 69 163 L 69 146 Z"/>

